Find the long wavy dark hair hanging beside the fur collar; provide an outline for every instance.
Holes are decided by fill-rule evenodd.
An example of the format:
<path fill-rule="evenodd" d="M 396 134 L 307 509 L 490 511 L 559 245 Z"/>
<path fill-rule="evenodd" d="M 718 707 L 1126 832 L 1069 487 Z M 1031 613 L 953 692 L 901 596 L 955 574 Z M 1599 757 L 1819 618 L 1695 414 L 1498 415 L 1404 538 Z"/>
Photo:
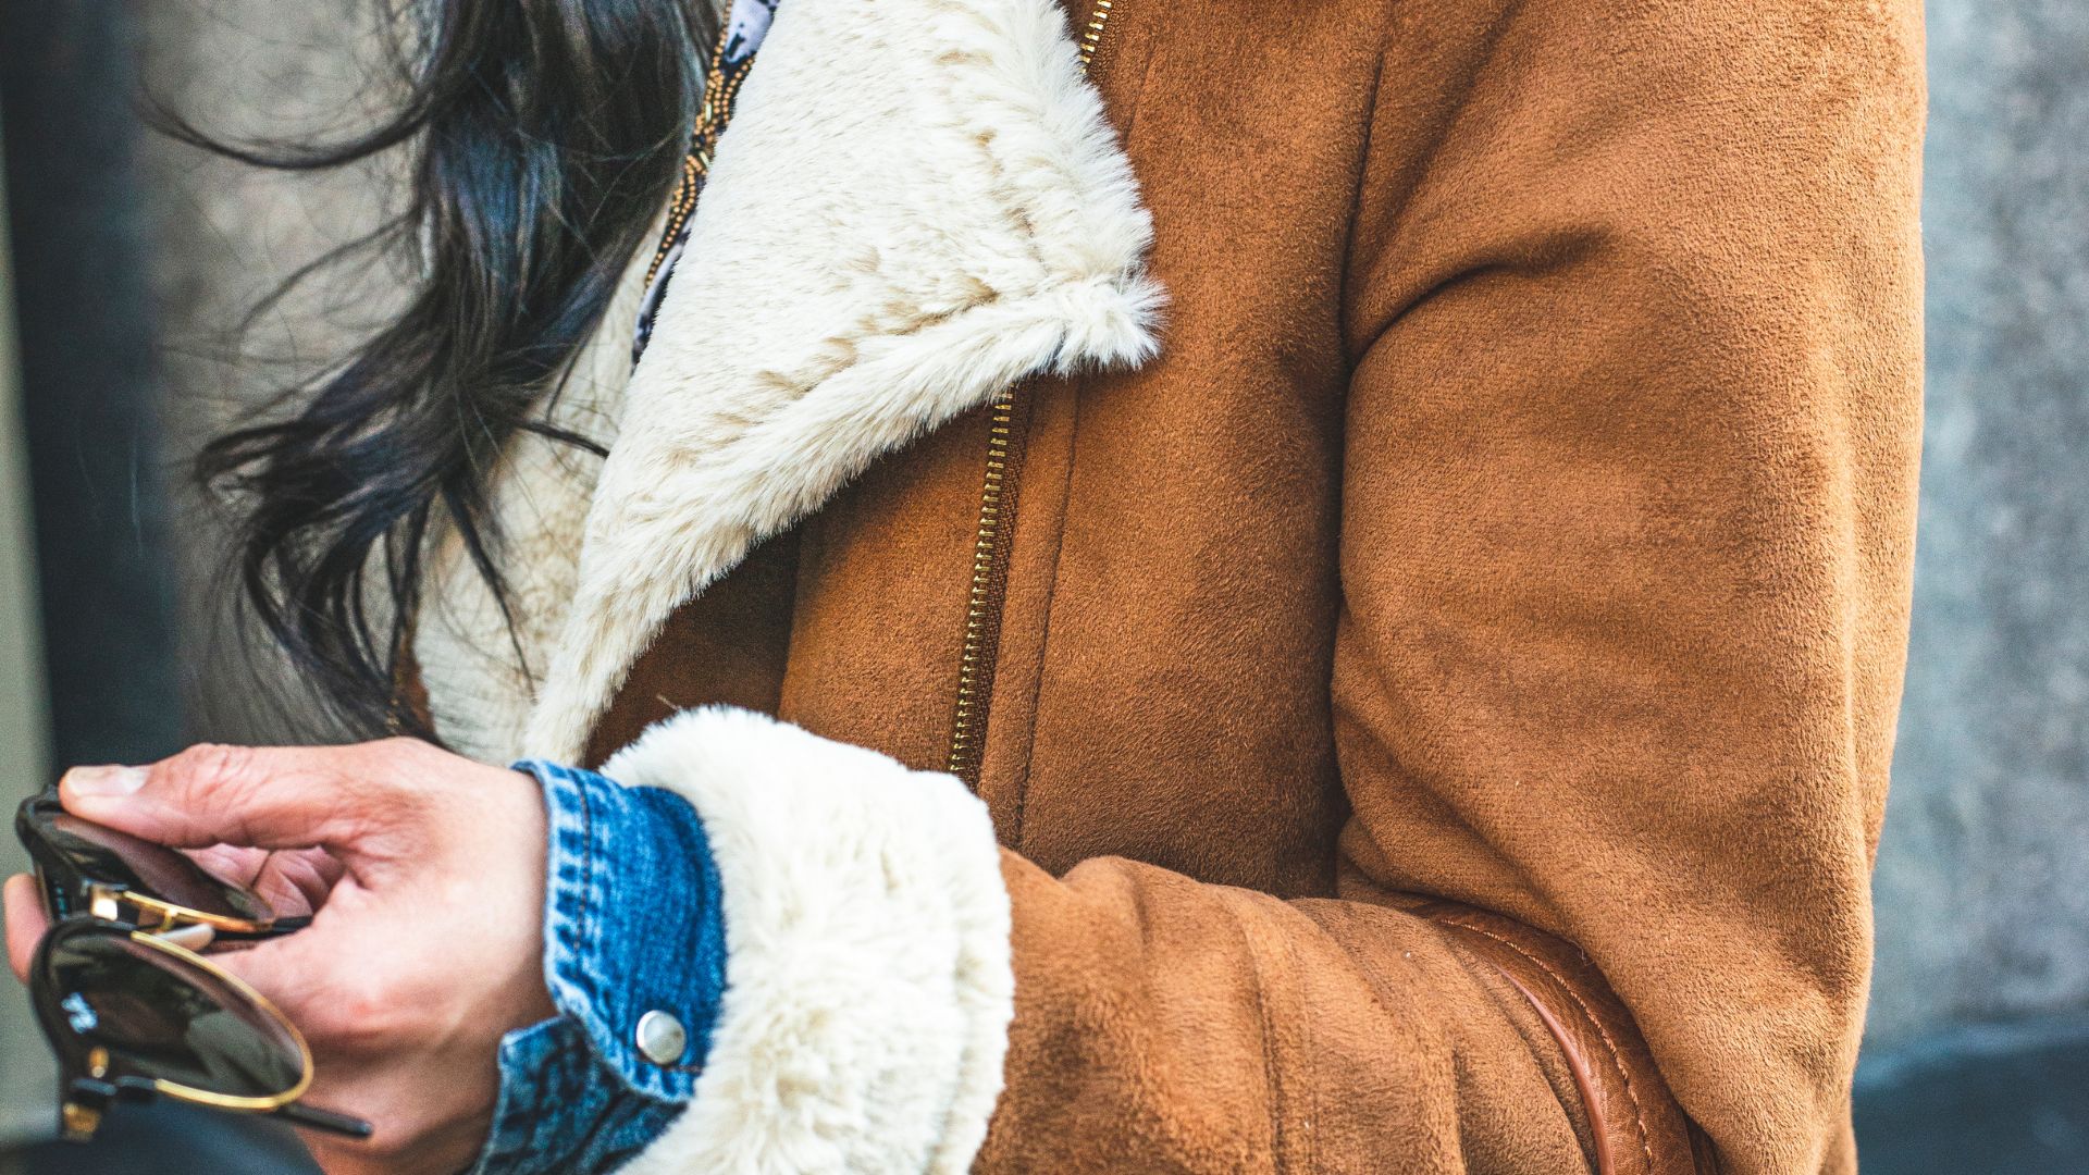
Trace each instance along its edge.
<path fill-rule="evenodd" d="M 543 408 L 673 190 L 714 17 L 708 0 L 389 2 L 405 94 L 378 125 L 230 142 L 157 121 L 259 167 L 409 163 L 403 211 L 349 249 L 407 255 L 405 309 L 288 412 L 211 441 L 198 475 L 236 502 L 244 598 L 334 717 L 432 738 L 397 671 L 430 527 L 457 529 L 506 615 L 485 470 L 524 431 L 602 454 Z"/>

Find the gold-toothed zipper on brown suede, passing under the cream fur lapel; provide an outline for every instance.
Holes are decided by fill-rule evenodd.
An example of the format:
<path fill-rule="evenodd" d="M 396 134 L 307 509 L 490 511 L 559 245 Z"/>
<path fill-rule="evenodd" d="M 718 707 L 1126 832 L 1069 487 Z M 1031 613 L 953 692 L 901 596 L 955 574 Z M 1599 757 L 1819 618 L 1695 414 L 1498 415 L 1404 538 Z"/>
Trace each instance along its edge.
<path fill-rule="evenodd" d="M 1103 48 L 1111 8 L 1122 0 L 1095 0 L 1080 27 L 1080 69 L 1090 73 Z M 986 753 L 986 709 L 1001 648 L 1001 602 L 1007 594 L 1009 523 L 1015 512 L 1015 389 L 986 410 L 986 477 L 980 485 L 980 527 L 971 542 L 971 590 L 965 594 L 965 646 L 957 661 L 957 707 L 950 717 L 950 755 L 944 769 L 980 786 Z"/>

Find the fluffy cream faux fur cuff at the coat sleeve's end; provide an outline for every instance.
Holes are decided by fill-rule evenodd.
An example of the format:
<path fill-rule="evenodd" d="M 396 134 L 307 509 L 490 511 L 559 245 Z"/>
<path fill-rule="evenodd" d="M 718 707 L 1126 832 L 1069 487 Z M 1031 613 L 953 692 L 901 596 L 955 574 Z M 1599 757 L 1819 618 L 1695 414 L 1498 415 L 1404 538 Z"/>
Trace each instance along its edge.
<path fill-rule="evenodd" d="M 602 771 L 687 797 L 725 891 L 704 1075 L 625 1171 L 971 1167 L 1015 1012 L 986 805 L 953 776 L 735 709 L 660 721 Z"/>

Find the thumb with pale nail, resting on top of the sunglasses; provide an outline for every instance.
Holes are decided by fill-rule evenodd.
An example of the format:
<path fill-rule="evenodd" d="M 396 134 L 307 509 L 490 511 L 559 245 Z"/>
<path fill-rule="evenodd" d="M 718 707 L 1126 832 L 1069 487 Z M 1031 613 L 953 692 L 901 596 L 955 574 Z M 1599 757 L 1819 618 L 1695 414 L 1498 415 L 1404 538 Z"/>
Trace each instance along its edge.
<path fill-rule="evenodd" d="M 58 797 L 73 815 L 178 849 L 345 847 L 372 782 L 338 769 L 349 748 L 190 746 L 150 767 L 73 767 Z"/>

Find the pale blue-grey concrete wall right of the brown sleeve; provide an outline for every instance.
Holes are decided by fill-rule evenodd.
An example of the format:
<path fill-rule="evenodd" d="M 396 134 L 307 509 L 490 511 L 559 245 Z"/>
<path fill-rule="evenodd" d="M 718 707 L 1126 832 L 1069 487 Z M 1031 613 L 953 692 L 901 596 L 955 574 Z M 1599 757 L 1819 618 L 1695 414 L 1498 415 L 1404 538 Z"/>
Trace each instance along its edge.
<path fill-rule="evenodd" d="M 1926 165 L 1880 1043 L 2089 1010 L 2089 4 L 1932 0 Z"/>

